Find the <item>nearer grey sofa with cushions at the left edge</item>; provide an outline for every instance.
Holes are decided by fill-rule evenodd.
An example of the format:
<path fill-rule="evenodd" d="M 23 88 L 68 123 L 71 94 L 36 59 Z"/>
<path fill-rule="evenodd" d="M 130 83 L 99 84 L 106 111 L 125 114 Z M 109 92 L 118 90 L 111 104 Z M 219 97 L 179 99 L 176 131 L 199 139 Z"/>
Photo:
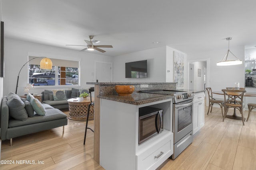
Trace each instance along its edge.
<path fill-rule="evenodd" d="M 0 137 L 2 140 L 36 133 L 68 124 L 67 115 L 48 104 L 41 104 L 32 95 L 26 99 L 14 93 L 4 96 L 0 110 Z"/>

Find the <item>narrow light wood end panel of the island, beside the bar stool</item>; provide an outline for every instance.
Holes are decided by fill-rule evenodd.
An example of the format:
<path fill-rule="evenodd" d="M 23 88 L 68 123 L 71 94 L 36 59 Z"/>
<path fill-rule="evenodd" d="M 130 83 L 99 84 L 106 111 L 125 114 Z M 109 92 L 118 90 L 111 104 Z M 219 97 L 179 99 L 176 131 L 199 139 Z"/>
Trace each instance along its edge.
<path fill-rule="evenodd" d="M 94 160 L 100 164 L 100 98 L 99 85 L 94 86 Z"/>

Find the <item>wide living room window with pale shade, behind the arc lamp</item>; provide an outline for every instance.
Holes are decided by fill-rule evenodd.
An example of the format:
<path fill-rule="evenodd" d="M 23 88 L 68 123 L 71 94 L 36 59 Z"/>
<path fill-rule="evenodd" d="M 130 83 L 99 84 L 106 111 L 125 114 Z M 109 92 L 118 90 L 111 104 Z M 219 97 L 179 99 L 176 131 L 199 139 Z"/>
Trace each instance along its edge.
<path fill-rule="evenodd" d="M 29 56 L 29 60 L 34 57 Z M 52 70 L 40 69 L 42 58 L 28 63 L 28 83 L 34 86 L 79 85 L 79 62 L 60 59 L 52 60 Z"/>

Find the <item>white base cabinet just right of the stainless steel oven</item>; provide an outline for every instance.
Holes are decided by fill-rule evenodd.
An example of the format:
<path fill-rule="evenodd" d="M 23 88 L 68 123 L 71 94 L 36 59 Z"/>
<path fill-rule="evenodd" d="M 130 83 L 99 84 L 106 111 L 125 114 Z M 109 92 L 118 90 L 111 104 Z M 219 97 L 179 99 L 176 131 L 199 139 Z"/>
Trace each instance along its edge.
<path fill-rule="evenodd" d="M 193 103 L 193 135 L 204 126 L 204 92 L 196 93 Z"/>

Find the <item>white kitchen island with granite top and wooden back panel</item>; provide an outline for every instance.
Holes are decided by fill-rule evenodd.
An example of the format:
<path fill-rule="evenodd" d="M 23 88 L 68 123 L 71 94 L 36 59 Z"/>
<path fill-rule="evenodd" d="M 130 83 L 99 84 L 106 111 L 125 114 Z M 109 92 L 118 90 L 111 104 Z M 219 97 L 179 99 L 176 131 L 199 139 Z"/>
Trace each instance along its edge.
<path fill-rule="evenodd" d="M 171 95 L 139 93 L 140 90 L 172 89 L 176 83 L 90 83 L 95 86 L 94 159 L 106 169 L 157 168 L 173 153 Z M 132 96 L 118 96 L 115 85 L 134 85 Z M 138 145 L 138 110 L 164 109 L 164 131 Z M 164 154 L 158 157 L 159 154 Z"/>

